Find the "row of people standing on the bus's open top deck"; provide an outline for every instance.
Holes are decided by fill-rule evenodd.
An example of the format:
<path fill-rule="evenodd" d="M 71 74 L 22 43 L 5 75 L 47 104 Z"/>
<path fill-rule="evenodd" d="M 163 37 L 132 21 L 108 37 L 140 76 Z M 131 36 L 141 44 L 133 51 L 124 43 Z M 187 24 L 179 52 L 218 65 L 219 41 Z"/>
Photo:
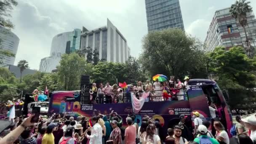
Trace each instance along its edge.
<path fill-rule="evenodd" d="M 96 86 L 93 83 L 90 93 L 91 103 L 127 103 L 131 102 L 131 93 L 140 99 L 143 92 L 149 92 L 149 98 L 151 101 L 172 101 L 172 100 L 187 100 L 186 87 L 188 85 L 189 77 L 184 78 L 184 83 L 179 79 L 175 80 L 174 77 L 170 77 L 170 80 L 159 82 L 158 79 L 155 82 L 150 83 L 146 81 L 145 85 L 141 81 L 137 82 L 137 86 L 128 85 L 128 88 L 121 88 L 117 84 L 109 85 L 106 83 L 104 86 L 102 83 Z"/>

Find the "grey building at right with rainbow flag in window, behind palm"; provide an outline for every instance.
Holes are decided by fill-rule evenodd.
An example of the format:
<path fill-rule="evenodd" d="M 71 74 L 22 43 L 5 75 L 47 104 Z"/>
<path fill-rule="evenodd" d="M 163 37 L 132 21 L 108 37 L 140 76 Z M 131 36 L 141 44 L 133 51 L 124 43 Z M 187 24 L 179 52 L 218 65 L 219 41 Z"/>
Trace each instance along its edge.
<path fill-rule="evenodd" d="M 248 25 L 245 27 L 250 44 L 256 46 L 256 19 L 253 14 L 247 13 Z M 215 12 L 208 29 L 204 48 L 213 51 L 217 46 L 224 46 L 227 50 L 233 46 L 245 46 L 245 32 L 243 27 L 231 16 L 229 8 Z"/>

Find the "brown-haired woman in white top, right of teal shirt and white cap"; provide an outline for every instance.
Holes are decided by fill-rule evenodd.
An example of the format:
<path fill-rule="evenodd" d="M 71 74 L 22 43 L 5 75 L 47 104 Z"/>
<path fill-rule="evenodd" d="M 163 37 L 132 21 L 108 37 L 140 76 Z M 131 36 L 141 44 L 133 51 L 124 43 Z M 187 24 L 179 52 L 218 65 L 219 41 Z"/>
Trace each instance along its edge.
<path fill-rule="evenodd" d="M 215 121 L 213 124 L 214 128 L 216 129 L 216 139 L 218 141 L 223 141 L 226 144 L 229 144 L 229 136 L 225 131 L 224 126 L 221 122 Z"/>

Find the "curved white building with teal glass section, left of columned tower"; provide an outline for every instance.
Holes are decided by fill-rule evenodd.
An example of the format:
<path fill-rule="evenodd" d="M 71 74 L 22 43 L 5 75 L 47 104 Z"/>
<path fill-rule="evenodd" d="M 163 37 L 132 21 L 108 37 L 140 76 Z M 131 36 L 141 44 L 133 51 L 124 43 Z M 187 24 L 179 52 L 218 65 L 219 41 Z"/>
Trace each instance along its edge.
<path fill-rule="evenodd" d="M 50 56 L 41 59 L 39 71 L 51 72 L 56 69 L 61 60 L 61 54 L 71 53 L 80 48 L 80 29 L 74 29 L 72 32 L 63 32 L 53 37 L 51 43 Z"/>

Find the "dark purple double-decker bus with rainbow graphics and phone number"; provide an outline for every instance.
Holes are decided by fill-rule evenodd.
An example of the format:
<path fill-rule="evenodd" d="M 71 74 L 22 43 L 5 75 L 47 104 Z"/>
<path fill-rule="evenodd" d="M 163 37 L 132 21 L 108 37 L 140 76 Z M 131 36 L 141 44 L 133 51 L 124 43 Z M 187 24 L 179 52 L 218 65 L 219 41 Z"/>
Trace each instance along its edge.
<path fill-rule="evenodd" d="M 147 115 L 158 119 L 163 128 L 164 134 L 168 128 L 179 123 L 179 116 L 185 115 L 186 125 L 192 128 L 195 116 L 193 112 L 199 112 L 202 120 L 212 121 L 208 103 L 216 105 L 216 114 L 229 133 L 232 127 L 232 115 L 227 105 L 227 94 L 223 94 L 218 84 L 214 80 L 191 79 L 188 81 L 183 101 L 148 101 L 144 102 L 139 112 L 134 113 L 132 103 L 116 104 L 82 104 L 80 91 L 56 91 L 51 94 L 48 115 L 54 113 L 65 114 L 67 116 L 83 115 L 87 118 L 93 115 L 109 115 L 117 112 L 123 118 L 123 126 L 126 125 L 125 118 L 133 113 L 135 121 L 140 125 L 141 119 Z M 192 131 L 192 130 L 191 130 Z M 167 135 L 167 133 L 166 133 Z"/>

